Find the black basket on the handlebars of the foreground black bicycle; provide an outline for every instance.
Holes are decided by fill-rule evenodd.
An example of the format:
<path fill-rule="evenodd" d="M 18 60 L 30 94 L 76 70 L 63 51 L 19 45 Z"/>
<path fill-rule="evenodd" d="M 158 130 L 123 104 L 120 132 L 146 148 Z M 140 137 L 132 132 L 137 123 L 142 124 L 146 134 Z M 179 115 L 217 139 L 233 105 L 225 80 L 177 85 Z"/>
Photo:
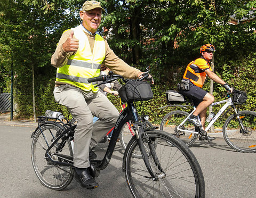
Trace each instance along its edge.
<path fill-rule="evenodd" d="M 153 92 L 146 81 L 129 80 L 118 90 L 122 102 L 148 101 L 153 98 Z"/>

